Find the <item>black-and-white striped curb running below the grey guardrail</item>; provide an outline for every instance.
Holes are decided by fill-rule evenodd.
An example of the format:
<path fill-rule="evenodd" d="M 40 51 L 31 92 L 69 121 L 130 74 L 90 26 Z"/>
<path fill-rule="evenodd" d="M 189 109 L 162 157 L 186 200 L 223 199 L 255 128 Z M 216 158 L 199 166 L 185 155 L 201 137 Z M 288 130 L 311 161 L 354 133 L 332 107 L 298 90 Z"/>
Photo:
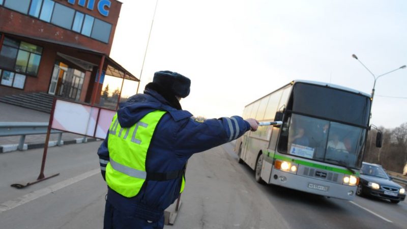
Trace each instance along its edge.
<path fill-rule="evenodd" d="M 97 138 L 75 138 L 73 140 L 61 140 L 61 144 L 57 145 L 57 141 L 49 141 L 48 142 L 48 147 L 55 147 L 55 146 L 65 146 L 65 145 L 71 145 L 71 144 L 80 144 L 80 143 L 86 143 L 86 142 L 93 142 L 93 141 L 99 141 L 100 139 Z M 24 144 L 23 150 L 33 150 L 33 149 L 40 149 L 44 148 L 45 142 L 36 142 L 36 143 L 28 143 Z M 10 144 L 10 145 L 0 145 L 0 153 L 8 153 L 8 152 L 14 152 L 18 151 L 18 144 Z"/>

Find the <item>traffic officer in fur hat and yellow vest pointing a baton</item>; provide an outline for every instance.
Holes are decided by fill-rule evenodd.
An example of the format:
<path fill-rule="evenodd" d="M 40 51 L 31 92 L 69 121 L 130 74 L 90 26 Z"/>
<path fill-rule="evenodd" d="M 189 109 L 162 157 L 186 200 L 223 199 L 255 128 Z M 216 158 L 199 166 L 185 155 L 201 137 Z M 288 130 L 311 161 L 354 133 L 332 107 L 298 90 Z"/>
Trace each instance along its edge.
<path fill-rule="evenodd" d="M 163 228 L 164 210 L 184 190 L 189 157 L 257 129 L 256 120 L 239 116 L 194 119 L 179 103 L 190 84 L 176 72 L 156 72 L 113 117 L 98 150 L 108 185 L 104 228 Z"/>

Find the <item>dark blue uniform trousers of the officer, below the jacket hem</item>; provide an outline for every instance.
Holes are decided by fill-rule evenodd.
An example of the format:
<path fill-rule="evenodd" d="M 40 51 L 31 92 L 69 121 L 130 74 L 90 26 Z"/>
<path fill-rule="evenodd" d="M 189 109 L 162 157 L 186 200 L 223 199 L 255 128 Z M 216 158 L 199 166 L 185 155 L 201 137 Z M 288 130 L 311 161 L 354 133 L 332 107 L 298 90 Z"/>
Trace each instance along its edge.
<path fill-rule="evenodd" d="M 107 200 L 105 206 L 104 229 L 162 229 L 164 215 L 157 222 L 129 216 L 115 209 Z"/>

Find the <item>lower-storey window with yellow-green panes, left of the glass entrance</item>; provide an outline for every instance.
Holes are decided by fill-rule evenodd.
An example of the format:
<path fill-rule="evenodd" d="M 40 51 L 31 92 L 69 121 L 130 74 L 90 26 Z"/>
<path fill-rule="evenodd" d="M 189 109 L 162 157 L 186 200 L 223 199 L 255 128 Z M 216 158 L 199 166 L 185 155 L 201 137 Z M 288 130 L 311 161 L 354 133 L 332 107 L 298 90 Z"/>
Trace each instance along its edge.
<path fill-rule="evenodd" d="M 0 67 L 36 76 L 41 61 L 42 48 L 5 37 L 0 52 Z"/>

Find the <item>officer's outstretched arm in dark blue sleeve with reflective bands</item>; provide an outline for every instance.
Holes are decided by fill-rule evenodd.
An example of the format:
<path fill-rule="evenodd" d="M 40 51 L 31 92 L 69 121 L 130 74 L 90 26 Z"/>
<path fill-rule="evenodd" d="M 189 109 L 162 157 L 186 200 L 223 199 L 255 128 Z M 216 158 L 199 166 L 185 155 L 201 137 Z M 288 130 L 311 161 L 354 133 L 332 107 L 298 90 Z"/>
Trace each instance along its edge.
<path fill-rule="evenodd" d="M 235 140 L 250 129 L 250 124 L 239 116 L 205 121 L 192 117 L 176 134 L 174 149 L 180 156 L 192 155 Z"/>

